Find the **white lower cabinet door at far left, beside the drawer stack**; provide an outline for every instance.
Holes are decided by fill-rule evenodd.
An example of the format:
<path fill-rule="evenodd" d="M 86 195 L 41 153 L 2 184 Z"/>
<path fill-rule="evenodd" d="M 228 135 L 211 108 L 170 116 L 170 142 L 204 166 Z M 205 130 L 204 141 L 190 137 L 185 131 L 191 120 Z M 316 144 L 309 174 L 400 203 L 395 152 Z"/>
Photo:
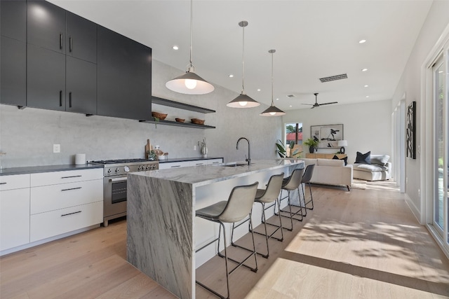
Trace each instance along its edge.
<path fill-rule="evenodd" d="M 27 176 L 29 178 L 29 174 Z M 2 190 L 0 251 L 27 243 L 29 243 L 29 188 Z"/>

